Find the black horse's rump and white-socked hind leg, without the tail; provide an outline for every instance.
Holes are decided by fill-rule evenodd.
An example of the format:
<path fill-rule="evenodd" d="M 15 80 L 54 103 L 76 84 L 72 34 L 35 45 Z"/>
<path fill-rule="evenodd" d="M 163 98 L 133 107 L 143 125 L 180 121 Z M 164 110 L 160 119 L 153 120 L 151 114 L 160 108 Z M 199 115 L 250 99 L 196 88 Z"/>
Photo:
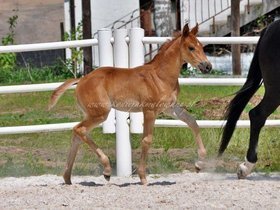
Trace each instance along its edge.
<path fill-rule="evenodd" d="M 240 165 L 238 177 L 244 178 L 250 174 L 257 162 L 257 145 L 261 128 L 268 116 L 280 104 L 280 21 L 276 21 L 263 32 L 259 43 L 258 63 L 261 69 L 265 94 L 262 101 L 249 112 L 251 129 L 250 143 L 245 163 Z"/>

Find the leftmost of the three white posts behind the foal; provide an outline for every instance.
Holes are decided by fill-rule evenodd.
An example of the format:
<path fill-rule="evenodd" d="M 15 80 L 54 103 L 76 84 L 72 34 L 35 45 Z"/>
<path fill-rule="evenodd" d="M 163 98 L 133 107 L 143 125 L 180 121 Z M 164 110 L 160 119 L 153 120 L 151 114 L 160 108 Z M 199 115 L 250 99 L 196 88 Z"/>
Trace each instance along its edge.
<path fill-rule="evenodd" d="M 110 29 L 98 30 L 98 52 L 99 64 L 101 66 L 113 66 L 113 47 L 111 44 L 112 31 Z M 112 109 L 105 122 L 103 122 L 103 133 L 115 133 L 115 110 Z"/>

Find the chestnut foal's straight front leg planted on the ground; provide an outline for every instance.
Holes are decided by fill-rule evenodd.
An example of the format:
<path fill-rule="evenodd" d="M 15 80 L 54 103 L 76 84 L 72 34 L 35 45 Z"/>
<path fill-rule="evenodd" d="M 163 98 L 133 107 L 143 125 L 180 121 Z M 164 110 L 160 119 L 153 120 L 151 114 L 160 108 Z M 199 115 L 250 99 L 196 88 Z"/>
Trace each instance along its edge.
<path fill-rule="evenodd" d="M 155 124 L 156 114 L 153 111 L 144 112 L 144 133 L 142 139 L 142 151 L 141 151 L 141 159 L 138 167 L 138 175 L 143 185 L 147 185 L 146 179 L 146 162 L 148 156 L 148 150 L 152 143 L 153 139 L 153 129 Z"/>

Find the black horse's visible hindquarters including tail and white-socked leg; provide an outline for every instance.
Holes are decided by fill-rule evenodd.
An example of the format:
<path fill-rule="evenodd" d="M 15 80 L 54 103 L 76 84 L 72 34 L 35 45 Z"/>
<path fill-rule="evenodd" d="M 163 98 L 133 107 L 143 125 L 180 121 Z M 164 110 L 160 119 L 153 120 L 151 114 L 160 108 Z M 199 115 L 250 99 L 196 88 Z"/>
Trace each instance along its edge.
<path fill-rule="evenodd" d="M 223 154 L 232 137 L 236 123 L 260 85 L 263 83 L 265 94 L 262 101 L 249 112 L 250 143 L 245 158 L 238 170 L 238 177 L 250 174 L 257 162 L 257 145 L 261 128 L 268 116 L 280 104 L 280 20 L 273 22 L 261 32 L 253 60 L 243 87 L 231 100 L 225 114 L 227 120 L 219 148 L 219 156 Z"/>

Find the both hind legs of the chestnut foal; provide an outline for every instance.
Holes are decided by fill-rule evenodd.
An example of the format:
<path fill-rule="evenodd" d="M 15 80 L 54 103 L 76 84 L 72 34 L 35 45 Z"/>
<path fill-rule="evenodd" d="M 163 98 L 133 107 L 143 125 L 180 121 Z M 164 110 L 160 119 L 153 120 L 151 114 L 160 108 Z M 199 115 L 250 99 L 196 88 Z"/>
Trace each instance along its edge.
<path fill-rule="evenodd" d="M 93 127 L 97 126 L 99 123 L 101 123 L 103 121 L 104 121 L 103 116 L 99 117 L 99 118 L 96 117 L 95 119 L 88 118 L 88 119 L 82 121 L 81 123 L 79 123 L 73 129 L 74 138 L 73 138 L 72 146 L 71 146 L 70 153 L 68 156 L 66 170 L 65 170 L 64 176 L 63 176 L 66 184 L 71 184 L 71 171 L 72 171 L 73 163 L 74 163 L 74 160 L 75 160 L 75 157 L 76 157 L 76 154 L 78 151 L 78 147 L 79 147 L 76 137 L 78 137 L 80 140 L 82 140 L 83 142 L 88 144 L 90 149 L 97 154 L 98 158 L 100 159 L 100 161 L 104 167 L 103 175 L 106 180 L 108 180 L 108 181 L 110 180 L 112 169 L 110 166 L 109 158 L 102 152 L 102 150 L 100 148 L 98 148 L 98 146 L 88 136 L 89 131 Z"/>

